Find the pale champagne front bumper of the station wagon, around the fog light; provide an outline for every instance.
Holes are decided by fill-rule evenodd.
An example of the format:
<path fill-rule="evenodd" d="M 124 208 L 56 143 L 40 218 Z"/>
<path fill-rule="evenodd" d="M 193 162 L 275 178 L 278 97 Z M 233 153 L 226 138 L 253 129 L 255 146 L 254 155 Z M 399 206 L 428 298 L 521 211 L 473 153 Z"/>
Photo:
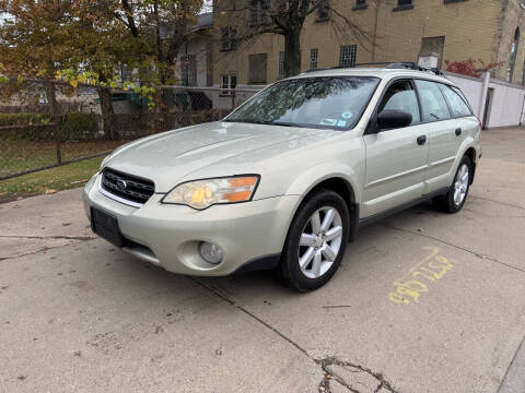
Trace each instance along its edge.
<path fill-rule="evenodd" d="M 164 194 L 153 194 L 141 207 L 117 202 L 98 191 L 94 176 L 83 192 L 88 217 L 91 207 L 118 221 L 122 236 L 131 240 L 124 250 L 179 274 L 221 276 L 246 267 L 250 261 L 271 260 L 282 251 L 299 195 L 283 195 L 246 203 L 214 205 L 203 211 L 162 204 Z M 206 262 L 200 241 L 219 245 L 223 261 Z"/>

